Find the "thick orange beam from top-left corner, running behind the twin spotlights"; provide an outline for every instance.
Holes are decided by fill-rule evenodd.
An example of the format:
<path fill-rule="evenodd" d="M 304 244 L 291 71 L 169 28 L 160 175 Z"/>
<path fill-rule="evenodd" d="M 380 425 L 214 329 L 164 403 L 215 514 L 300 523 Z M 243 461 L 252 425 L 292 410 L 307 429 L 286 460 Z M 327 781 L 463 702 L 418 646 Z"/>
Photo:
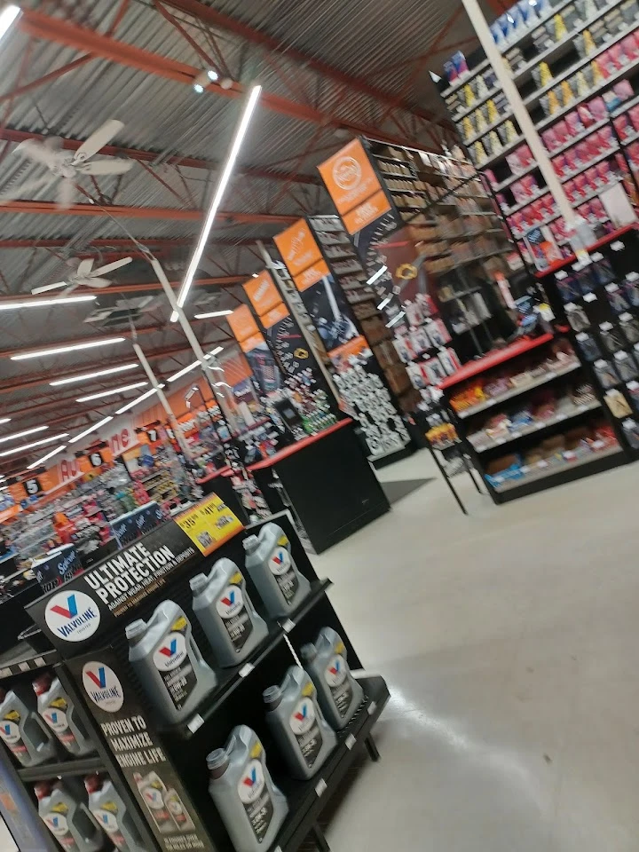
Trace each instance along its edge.
<path fill-rule="evenodd" d="M 193 86 L 195 78 L 201 74 L 201 68 L 186 65 L 184 62 L 178 62 L 177 59 L 170 59 L 170 57 L 152 51 L 146 51 L 133 44 L 120 42 L 108 36 L 101 36 L 92 29 L 79 27 L 59 18 L 51 18 L 43 12 L 24 9 L 20 15 L 18 26 L 33 38 L 64 44 L 78 51 L 89 51 L 102 59 L 109 59 L 120 65 L 136 68 L 145 74 L 158 75 L 188 86 Z M 233 81 L 228 88 L 223 88 L 219 83 L 209 83 L 206 88 L 207 91 L 221 97 L 237 99 L 244 97 L 248 87 Z M 372 136 L 392 145 L 406 145 L 406 141 L 411 141 L 385 133 L 375 124 L 352 122 L 346 117 L 340 118 L 312 106 L 282 98 L 272 92 L 263 92 L 260 104 L 264 108 L 272 110 L 272 112 L 287 115 L 289 118 L 298 121 L 312 122 L 323 126 L 346 127 L 355 133 Z"/>

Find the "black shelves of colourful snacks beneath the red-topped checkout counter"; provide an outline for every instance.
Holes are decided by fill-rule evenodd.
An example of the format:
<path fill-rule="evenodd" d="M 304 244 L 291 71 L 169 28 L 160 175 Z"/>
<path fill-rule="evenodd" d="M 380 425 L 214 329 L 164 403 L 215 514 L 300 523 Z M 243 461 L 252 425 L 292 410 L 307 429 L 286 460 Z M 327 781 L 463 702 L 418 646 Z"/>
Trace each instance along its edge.
<path fill-rule="evenodd" d="M 493 352 L 440 385 L 495 503 L 628 460 L 603 393 L 577 353 L 570 335 L 557 329 Z M 508 390 L 490 393 L 504 381 Z M 469 405 L 470 393 L 487 398 Z"/>

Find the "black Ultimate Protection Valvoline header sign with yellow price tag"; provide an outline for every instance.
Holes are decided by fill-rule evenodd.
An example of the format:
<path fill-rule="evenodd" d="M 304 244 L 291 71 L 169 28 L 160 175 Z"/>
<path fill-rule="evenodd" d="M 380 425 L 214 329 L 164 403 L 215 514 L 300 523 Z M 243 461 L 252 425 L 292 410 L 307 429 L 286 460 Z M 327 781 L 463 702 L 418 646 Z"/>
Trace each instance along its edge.
<path fill-rule="evenodd" d="M 75 577 L 28 613 L 65 656 L 76 643 L 95 644 L 117 619 L 162 590 L 170 576 L 209 556 L 243 529 L 225 503 L 210 494 L 152 533 Z"/>

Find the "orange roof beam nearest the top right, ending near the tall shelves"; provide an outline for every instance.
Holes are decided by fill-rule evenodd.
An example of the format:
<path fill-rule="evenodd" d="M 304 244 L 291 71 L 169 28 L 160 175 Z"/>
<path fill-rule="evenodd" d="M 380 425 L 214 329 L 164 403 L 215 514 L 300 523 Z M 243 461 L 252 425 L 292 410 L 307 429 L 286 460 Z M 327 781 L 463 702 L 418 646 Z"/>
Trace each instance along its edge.
<path fill-rule="evenodd" d="M 422 109 L 420 106 L 414 106 L 405 100 L 399 100 L 396 103 L 395 97 L 390 92 L 372 86 L 361 77 L 345 74 L 322 59 L 312 56 L 312 54 L 298 51 L 295 47 L 283 43 L 280 39 L 269 36 L 267 33 L 260 32 L 243 23 L 241 20 L 236 20 L 229 15 L 225 15 L 223 12 L 217 12 L 212 6 L 205 5 L 200 0 L 164 0 L 164 3 L 172 6 L 174 9 L 178 9 L 180 12 L 191 15 L 192 18 L 209 24 L 211 27 L 225 29 L 227 32 L 232 32 L 235 36 L 240 36 L 245 41 L 261 44 L 263 47 L 268 48 L 268 50 L 281 54 L 285 59 L 294 59 L 296 62 L 300 62 L 314 71 L 318 71 L 319 74 L 328 77 L 330 80 L 335 81 L 335 83 L 341 83 L 353 91 L 362 92 L 362 94 L 368 95 L 380 103 L 389 106 L 399 106 L 408 112 L 419 115 L 420 118 L 424 118 L 427 121 L 434 121 L 439 124 L 449 123 L 444 122 L 428 110 Z"/>

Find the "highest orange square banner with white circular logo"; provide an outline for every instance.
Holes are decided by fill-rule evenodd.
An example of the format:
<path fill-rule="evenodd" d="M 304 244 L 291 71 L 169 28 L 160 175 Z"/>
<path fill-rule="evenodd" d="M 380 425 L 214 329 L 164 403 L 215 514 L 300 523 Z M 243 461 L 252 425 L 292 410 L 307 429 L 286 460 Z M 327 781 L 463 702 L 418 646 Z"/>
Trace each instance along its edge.
<path fill-rule="evenodd" d="M 353 139 L 318 169 L 342 217 L 382 189 L 359 139 Z"/>

